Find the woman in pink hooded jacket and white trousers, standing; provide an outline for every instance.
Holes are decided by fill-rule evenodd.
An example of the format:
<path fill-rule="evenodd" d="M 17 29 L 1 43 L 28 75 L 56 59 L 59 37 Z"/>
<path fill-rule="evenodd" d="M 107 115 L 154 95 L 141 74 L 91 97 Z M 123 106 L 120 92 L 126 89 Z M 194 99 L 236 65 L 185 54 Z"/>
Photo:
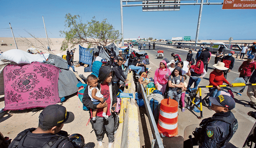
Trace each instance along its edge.
<path fill-rule="evenodd" d="M 166 66 L 166 61 L 160 62 L 160 68 L 156 69 L 154 76 L 155 88 L 164 94 L 168 77 L 171 74 L 170 69 Z"/>

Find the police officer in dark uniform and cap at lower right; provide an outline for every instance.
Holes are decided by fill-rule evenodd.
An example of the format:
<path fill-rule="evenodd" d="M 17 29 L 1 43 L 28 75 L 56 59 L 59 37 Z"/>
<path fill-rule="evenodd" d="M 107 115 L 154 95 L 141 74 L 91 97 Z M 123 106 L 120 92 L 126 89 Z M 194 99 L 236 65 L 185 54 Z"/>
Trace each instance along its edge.
<path fill-rule="evenodd" d="M 199 145 L 199 148 L 224 148 L 238 128 L 238 122 L 231 112 L 236 103 L 228 95 L 209 99 L 212 102 L 211 109 L 216 113 L 202 120 L 200 128 L 193 132 L 193 145 Z M 188 145 L 185 141 L 184 148 L 190 147 Z"/>

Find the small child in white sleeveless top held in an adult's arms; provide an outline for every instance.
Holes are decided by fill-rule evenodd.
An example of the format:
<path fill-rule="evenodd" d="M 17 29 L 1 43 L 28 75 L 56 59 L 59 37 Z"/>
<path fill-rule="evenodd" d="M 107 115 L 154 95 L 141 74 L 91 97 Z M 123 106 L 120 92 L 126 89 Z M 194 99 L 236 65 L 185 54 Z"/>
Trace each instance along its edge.
<path fill-rule="evenodd" d="M 99 103 L 104 103 L 105 99 L 103 98 L 103 95 L 100 93 L 100 90 L 98 89 L 98 79 L 95 75 L 89 75 L 87 77 L 87 83 L 89 85 L 88 88 L 88 95 L 91 98 L 91 101 L 93 104 L 98 105 Z M 106 115 L 106 112 L 108 111 L 108 106 L 103 108 L 102 116 L 106 119 L 108 119 L 108 115 Z M 92 111 L 92 120 L 96 120 L 96 114 L 97 109 Z"/>

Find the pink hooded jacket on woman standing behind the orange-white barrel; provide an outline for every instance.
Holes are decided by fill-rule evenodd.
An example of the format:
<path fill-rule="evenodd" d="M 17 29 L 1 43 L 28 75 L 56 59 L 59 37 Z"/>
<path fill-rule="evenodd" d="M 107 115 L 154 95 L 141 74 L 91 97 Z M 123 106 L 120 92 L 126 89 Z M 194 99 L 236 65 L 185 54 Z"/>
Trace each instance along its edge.
<path fill-rule="evenodd" d="M 166 84 L 168 82 L 168 79 L 166 79 L 166 74 L 168 73 L 168 76 L 171 74 L 170 69 L 167 68 L 166 65 L 166 61 L 162 60 L 160 63 L 164 63 L 165 65 L 165 69 L 156 69 L 155 75 L 154 75 L 154 83 L 156 84 L 156 82 L 160 83 L 160 84 Z M 159 63 L 159 67 L 160 67 L 160 63 Z"/>

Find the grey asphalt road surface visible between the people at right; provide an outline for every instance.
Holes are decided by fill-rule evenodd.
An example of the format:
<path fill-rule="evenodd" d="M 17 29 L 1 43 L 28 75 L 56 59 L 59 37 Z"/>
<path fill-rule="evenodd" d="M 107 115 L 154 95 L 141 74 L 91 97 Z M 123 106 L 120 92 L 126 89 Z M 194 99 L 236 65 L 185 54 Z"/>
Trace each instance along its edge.
<path fill-rule="evenodd" d="M 134 46 L 134 48 L 138 49 L 138 46 Z M 143 47 L 142 47 L 142 49 L 143 49 Z M 186 60 L 186 56 L 188 54 L 188 49 L 170 48 L 168 46 L 164 47 L 163 45 L 156 45 L 155 49 L 153 50 L 152 43 L 151 43 L 151 49 L 148 50 L 148 44 L 146 43 L 146 49 L 142 50 L 142 51 L 146 51 L 148 53 L 149 60 L 150 60 L 150 65 L 148 65 L 148 67 L 152 67 L 152 71 L 150 71 L 148 77 L 154 77 L 154 71 L 156 71 L 156 69 L 159 67 L 160 61 L 162 61 L 162 59 L 156 59 L 158 50 L 163 50 L 164 57 L 168 58 L 169 61 L 173 59 L 173 57 L 171 57 L 171 53 L 180 55 L 182 61 Z M 197 51 L 193 51 L 194 58 L 195 58 L 196 52 Z M 212 59 L 210 60 L 210 63 L 208 64 L 209 65 L 208 73 L 206 74 L 204 79 L 201 80 L 201 82 L 199 84 L 200 86 L 209 84 L 209 75 L 210 75 L 210 72 L 212 72 L 212 70 L 213 70 L 212 65 L 214 64 L 214 57 L 215 57 L 215 55 L 212 55 Z M 228 73 L 228 77 L 227 77 L 227 80 L 230 83 L 235 78 L 239 77 L 238 68 L 242 64 L 242 62 L 243 61 L 241 61 L 239 59 L 235 60 L 234 68 L 232 69 L 232 71 L 230 73 Z M 189 77 L 188 77 L 188 79 L 189 79 Z M 188 80 L 186 80 L 186 82 L 188 83 Z M 252 108 L 244 107 L 244 105 L 250 101 L 250 99 L 246 95 L 246 91 L 247 91 L 247 87 L 244 90 L 243 95 L 240 97 L 236 96 L 236 93 L 234 93 L 234 95 L 235 95 L 234 100 L 236 101 L 236 108 L 233 109 L 232 112 L 234 113 L 235 117 L 237 118 L 239 126 L 238 126 L 237 132 L 234 134 L 233 138 L 230 140 L 230 143 L 232 143 L 234 145 L 232 147 L 238 147 L 238 148 L 242 147 L 246 137 L 248 136 L 252 126 L 254 125 L 254 123 L 256 121 L 254 118 L 247 115 L 247 112 L 255 111 L 255 110 Z M 206 89 L 206 88 L 202 89 L 202 97 L 205 97 L 208 92 L 209 92 L 208 89 Z M 166 138 L 166 137 L 162 138 L 165 147 L 174 147 L 174 148 L 182 147 L 183 143 L 181 141 L 183 140 L 184 129 L 186 128 L 186 126 L 191 125 L 191 124 L 199 124 L 202 120 L 202 119 L 201 120 L 197 119 L 196 116 L 189 110 L 186 110 L 185 112 L 181 112 L 181 110 L 179 109 L 178 113 L 179 113 L 178 114 L 179 115 L 178 116 L 178 135 L 175 136 L 176 138 Z M 204 118 L 208 118 L 208 117 L 212 116 L 212 114 L 214 114 L 214 113 L 215 113 L 214 111 L 210 111 L 206 107 L 203 107 Z M 198 116 L 200 115 L 200 113 L 196 113 L 196 114 Z"/>

